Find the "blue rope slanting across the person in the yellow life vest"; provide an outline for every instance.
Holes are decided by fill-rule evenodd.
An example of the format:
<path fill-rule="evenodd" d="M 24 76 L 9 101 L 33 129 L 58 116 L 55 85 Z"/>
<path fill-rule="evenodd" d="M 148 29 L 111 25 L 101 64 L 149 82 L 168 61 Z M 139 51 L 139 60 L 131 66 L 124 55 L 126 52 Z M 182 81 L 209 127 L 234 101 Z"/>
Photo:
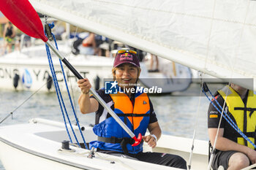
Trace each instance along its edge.
<path fill-rule="evenodd" d="M 219 108 L 217 108 L 217 106 L 214 104 L 213 101 L 211 101 L 211 99 L 207 96 L 206 92 L 204 90 L 202 90 L 203 93 L 206 95 L 206 97 L 208 98 L 208 100 L 211 102 L 211 104 L 217 109 L 217 111 L 222 114 L 222 112 L 219 110 L 219 108 L 223 109 L 222 106 L 219 104 L 219 102 L 217 101 L 217 99 L 214 98 L 214 96 L 212 95 L 211 91 L 209 91 L 209 93 L 211 94 L 212 98 L 214 98 L 214 101 L 216 101 L 216 103 L 218 104 Z M 229 115 L 227 115 L 227 112 L 224 111 L 224 115 L 223 117 L 225 118 L 225 120 L 227 120 L 227 123 L 229 123 L 237 132 L 238 134 L 241 134 L 241 136 L 243 136 L 244 139 L 246 139 L 246 141 L 248 141 L 250 144 L 252 144 L 253 147 L 256 148 L 256 145 L 240 130 L 240 128 L 238 128 L 238 126 L 236 125 L 236 123 L 233 122 L 233 120 L 231 120 L 231 118 L 229 117 Z"/>

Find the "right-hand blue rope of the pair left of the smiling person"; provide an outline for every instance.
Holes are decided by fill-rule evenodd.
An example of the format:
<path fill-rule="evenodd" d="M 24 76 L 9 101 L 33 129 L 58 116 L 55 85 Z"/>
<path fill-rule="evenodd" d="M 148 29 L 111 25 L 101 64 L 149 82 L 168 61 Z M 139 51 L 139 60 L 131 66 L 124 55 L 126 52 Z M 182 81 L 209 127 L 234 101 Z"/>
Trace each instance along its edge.
<path fill-rule="evenodd" d="M 52 34 L 52 36 L 53 36 L 53 39 L 54 39 L 56 48 L 57 48 L 57 50 L 59 50 L 58 45 L 57 45 L 57 42 L 56 42 L 56 39 L 55 39 L 55 36 L 54 36 L 53 34 Z M 69 93 L 69 87 L 68 87 L 68 85 L 67 85 L 67 80 L 66 80 L 66 76 L 65 76 L 65 73 L 64 73 L 63 65 L 62 65 L 62 62 L 61 62 L 60 59 L 59 59 L 59 63 L 60 63 L 60 65 L 61 65 L 61 71 L 62 71 L 62 74 L 63 74 L 63 77 L 64 77 L 64 81 L 65 81 L 65 85 L 66 85 L 66 88 L 67 88 L 67 93 L 68 93 L 68 96 L 69 96 L 69 101 L 70 101 L 70 104 L 71 104 L 71 107 L 72 107 L 72 110 L 73 110 L 73 113 L 74 113 L 74 116 L 75 116 L 75 121 L 76 121 L 76 123 L 77 123 L 77 125 L 78 125 L 80 134 L 81 134 L 81 136 L 82 136 L 82 138 L 83 138 L 83 143 L 84 143 L 84 145 L 86 146 L 86 149 L 89 150 L 89 148 L 87 147 L 87 144 L 86 144 L 86 140 L 85 140 L 84 137 L 83 137 L 83 133 L 82 133 L 81 128 L 80 128 L 80 123 L 79 123 L 79 121 L 78 121 L 78 117 L 77 117 L 77 115 L 76 115 L 76 113 L 75 113 L 75 109 L 74 109 L 74 106 L 73 106 L 72 98 L 71 98 L 70 93 Z"/>

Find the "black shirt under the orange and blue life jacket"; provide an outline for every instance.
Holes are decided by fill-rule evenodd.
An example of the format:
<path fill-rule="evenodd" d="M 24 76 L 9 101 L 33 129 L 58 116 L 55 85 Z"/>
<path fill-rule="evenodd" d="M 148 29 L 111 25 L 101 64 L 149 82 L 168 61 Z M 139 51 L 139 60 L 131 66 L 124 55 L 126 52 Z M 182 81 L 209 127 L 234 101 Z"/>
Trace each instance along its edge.
<path fill-rule="evenodd" d="M 105 89 L 99 89 L 97 90 L 97 93 L 106 102 L 106 104 L 108 104 L 108 106 L 114 110 L 113 100 L 109 94 L 105 94 Z M 94 98 L 94 96 L 90 96 L 90 98 Z M 148 99 L 150 106 L 149 123 L 155 123 L 157 122 L 157 115 L 154 112 L 153 104 L 151 103 L 150 98 Z M 132 100 L 132 104 L 134 104 L 134 99 Z M 108 117 L 111 117 L 111 115 L 107 112 L 107 110 L 104 107 L 102 107 L 101 104 L 99 104 L 99 109 L 96 111 L 95 124 L 100 123 L 101 120 L 105 120 Z"/>

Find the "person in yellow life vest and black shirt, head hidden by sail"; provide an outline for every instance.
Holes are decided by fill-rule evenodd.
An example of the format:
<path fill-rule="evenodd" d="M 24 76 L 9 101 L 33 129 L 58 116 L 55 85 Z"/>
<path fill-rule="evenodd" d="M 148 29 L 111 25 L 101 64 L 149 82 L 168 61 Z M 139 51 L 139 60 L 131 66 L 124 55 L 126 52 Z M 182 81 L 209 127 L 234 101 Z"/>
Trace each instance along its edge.
<path fill-rule="evenodd" d="M 218 90 L 215 99 L 223 107 L 238 128 L 256 144 L 256 95 L 252 90 L 242 88 L 233 83 Z M 226 98 L 226 101 L 225 101 Z M 213 101 L 215 106 L 216 101 Z M 222 111 L 222 109 L 220 109 Z M 217 135 L 221 114 L 210 104 L 208 108 L 208 135 L 211 144 Z M 256 151 L 252 144 L 246 141 L 222 117 L 216 142 L 216 152 L 211 164 L 213 169 L 222 166 L 223 169 L 244 169 L 256 163 Z"/>

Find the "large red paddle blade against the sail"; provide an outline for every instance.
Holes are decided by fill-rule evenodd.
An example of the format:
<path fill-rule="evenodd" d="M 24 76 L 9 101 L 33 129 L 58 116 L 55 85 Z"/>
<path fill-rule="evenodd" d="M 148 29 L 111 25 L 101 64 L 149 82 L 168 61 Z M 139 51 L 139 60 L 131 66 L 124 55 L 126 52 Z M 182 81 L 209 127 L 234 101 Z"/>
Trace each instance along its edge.
<path fill-rule="evenodd" d="M 20 31 L 47 42 L 42 22 L 28 0 L 0 0 L 0 10 Z"/>

